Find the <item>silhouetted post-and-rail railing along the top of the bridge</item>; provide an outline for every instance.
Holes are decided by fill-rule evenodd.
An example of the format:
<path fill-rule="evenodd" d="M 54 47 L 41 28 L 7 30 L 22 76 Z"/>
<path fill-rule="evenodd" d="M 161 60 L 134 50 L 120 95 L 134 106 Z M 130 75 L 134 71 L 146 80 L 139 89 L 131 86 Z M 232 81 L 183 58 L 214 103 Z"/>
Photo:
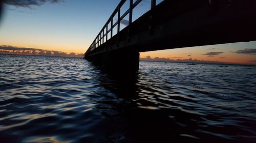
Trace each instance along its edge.
<path fill-rule="evenodd" d="M 123 15 L 121 15 L 121 7 L 124 5 L 124 3 L 126 1 L 129 0 L 121 0 L 121 2 L 118 4 L 118 6 L 116 7 L 116 9 L 114 10 L 114 12 L 112 13 L 112 15 L 110 16 L 110 18 L 108 19 L 108 21 L 106 21 L 106 23 L 104 24 L 104 26 L 102 27 L 101 31 L 99 32 L 99 34 L 96 36 L 96 38 L 94 39 L 93 43 L 90 45 L 89 49 L 86 51 L 87 54 L 93 50 L 95 50 L 97 47 L 99 47 L 100 45 L 102 45 L 103 43 L 105 43 L 106 41 L 108 41 L 109 39 L 111 39 L 113 37 L 113 28 L 115 26 L 117 26 L 117 35 L 120 32 L 120 23 L 121 20 L 123 20 L 123 18 L 125 16 L 127 16 L 129 14 L 129 24 L 130 25 L 132 23 L 132 19 L 133 19 L 133 9 L 142 1 L 142 0 L 137 0 L 137 1 L 133 1 L 130 0 L 130 7 L 128 10 L 126 10 Z M 151 9 L 154 8 L 156 6 L 156 0 L 151 0 Z M 116 16 L 117 14 L 117 21 L 114 22 L 113 18 L 114 16 Z M 108 27 L 110 24 L 110 27 Z M 108 39 L 108 34 L 110 33 L 110 37 Z M 118 37 L 118 36 L 117 36 Z M 105 41 L 104 41 L 105 39 Z M 83 55 L 84 58 L 84 55 Z"/>

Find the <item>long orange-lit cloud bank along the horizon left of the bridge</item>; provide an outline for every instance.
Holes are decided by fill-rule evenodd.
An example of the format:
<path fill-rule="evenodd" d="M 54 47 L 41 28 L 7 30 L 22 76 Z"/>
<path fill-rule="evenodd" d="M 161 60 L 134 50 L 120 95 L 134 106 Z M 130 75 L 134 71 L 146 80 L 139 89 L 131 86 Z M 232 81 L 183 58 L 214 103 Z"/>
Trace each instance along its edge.
<path fill-rule="evenodd" d="M 22 54 L 22 55 L 44 55 L 44 56 L 67 56 L 80 58 L 82 53 L 66 53 L 61 51 L 52 51 L 36 48 L 25 48 L 16 46 L 0 46 L 0 54 Z"/>

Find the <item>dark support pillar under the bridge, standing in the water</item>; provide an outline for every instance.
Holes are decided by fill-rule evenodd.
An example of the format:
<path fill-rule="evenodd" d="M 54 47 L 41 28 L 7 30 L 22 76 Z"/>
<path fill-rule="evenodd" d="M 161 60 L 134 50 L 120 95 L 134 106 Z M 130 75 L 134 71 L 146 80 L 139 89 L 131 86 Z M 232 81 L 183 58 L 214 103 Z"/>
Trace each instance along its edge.
<path fill-rule="evenodd" d="M 139 69 L 139 55 L 133 50 L 118 49 L 89 55 L 86 59 L 111 73 L 131 74 Z"/>

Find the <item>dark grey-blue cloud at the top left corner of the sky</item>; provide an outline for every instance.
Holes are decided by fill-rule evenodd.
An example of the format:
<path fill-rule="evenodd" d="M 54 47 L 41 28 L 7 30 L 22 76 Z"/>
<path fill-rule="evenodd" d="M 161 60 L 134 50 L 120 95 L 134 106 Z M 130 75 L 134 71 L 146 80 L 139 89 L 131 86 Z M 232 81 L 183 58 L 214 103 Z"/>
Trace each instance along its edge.
<path fill-rule="evenodd" d="M 61 3 L 63 0 L 5 0 L 4 3 L 7 5 L 23 8 L 31 8 L 33 6 L 41 6 L 46 3 Z"/>

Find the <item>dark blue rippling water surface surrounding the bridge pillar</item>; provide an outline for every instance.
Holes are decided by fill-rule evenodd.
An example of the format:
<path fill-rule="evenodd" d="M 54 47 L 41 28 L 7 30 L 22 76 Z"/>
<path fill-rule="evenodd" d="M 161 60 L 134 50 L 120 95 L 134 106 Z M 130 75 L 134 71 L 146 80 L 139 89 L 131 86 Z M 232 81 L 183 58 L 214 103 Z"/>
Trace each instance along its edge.
<path fill-rule="evenodd" d="M 1 142 L 256 142 L 256 67 L 0 55 Z M 126 78 L 127 77 L 127 78 Z"/>

